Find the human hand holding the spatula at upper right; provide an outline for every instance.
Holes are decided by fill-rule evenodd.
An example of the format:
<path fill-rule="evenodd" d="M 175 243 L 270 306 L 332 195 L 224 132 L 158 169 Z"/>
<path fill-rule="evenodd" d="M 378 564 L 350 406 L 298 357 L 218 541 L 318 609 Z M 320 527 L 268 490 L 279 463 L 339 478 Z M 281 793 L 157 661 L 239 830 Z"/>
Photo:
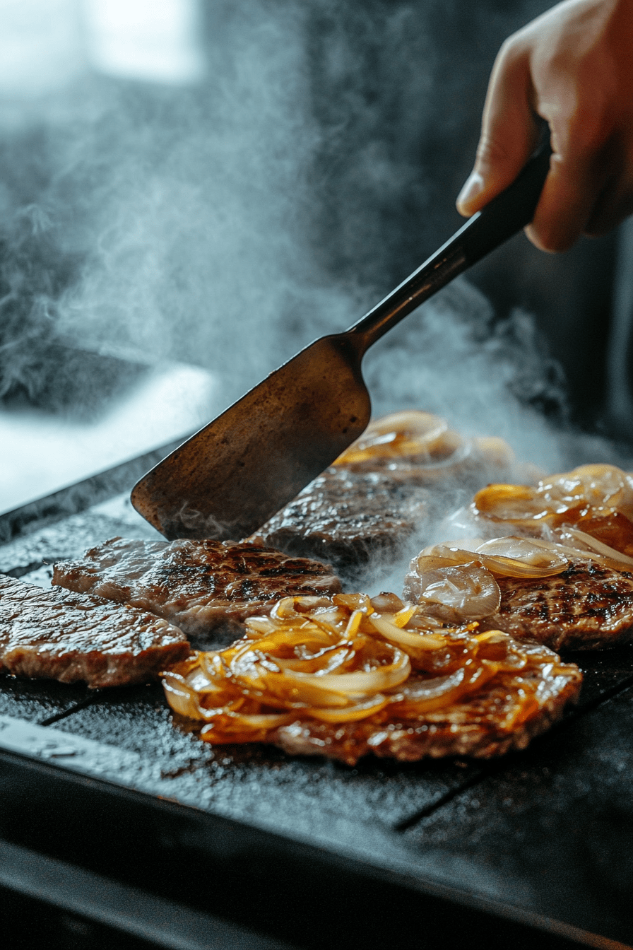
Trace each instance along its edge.
<path fill-rule="evenodd" d="M 538 116 L 553 154 L 526 233 L 544 251 L 564 251 L 633 213 L 633 0 L 566 0 L 506 40 L 460 214 L 475 214 L 516 178 L 537 143 Z"/>

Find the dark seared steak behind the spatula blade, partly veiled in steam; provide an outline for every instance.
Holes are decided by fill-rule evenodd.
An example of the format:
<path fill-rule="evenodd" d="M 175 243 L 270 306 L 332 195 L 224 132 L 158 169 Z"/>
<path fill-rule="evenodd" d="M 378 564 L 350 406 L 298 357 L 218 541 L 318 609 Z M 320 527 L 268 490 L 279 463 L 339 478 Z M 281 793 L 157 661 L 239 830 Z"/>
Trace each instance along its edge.
<path fill-rule="evenodd" d="M 253 537 L 288 554 L 331 562 L 354 583 L 417 539 L 430 522 L 431 500 L 414 473 L 331 467 Z"/>

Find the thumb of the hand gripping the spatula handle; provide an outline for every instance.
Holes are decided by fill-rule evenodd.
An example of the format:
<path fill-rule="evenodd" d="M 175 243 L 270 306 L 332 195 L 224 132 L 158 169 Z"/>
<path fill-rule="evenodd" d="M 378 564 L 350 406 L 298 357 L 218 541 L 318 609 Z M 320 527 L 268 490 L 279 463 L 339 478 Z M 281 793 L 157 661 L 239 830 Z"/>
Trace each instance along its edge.
<path fill-rule="evenodd" d="M 459 214 L 470 218 L 507 188 L 528 161 L 537 140 L 528 57 L 506 44 L 493 66 L 475 167 L 456 201 Z"/>

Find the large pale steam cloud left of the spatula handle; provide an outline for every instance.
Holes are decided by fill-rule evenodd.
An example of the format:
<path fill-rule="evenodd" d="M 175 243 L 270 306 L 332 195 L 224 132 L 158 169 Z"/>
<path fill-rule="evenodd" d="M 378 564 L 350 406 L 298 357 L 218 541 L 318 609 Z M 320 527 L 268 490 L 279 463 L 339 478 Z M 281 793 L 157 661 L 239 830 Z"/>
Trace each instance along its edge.
<path fill-rule="evenodd" d="M 247 6 L 214 5 L 205 85 L 84 76 L 13 131 L 5 393 L 38 390 L 40 341 L 54 338 L 206 367 L 229 403 L 358 312 L 327 287 L 307 240 L 319 130 L 305 12 Z"/>

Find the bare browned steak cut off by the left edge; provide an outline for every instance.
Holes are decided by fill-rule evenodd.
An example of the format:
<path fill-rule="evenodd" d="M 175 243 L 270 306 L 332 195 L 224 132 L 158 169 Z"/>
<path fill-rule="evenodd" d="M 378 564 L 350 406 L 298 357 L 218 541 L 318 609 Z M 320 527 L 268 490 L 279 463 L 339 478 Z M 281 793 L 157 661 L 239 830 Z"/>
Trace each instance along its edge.
<path fill-rule="evenodd" d="M 156 678 L 189 653 L 182 631 L 154 614 L 0 575 L 0 670 L 94 690 Z"/>

